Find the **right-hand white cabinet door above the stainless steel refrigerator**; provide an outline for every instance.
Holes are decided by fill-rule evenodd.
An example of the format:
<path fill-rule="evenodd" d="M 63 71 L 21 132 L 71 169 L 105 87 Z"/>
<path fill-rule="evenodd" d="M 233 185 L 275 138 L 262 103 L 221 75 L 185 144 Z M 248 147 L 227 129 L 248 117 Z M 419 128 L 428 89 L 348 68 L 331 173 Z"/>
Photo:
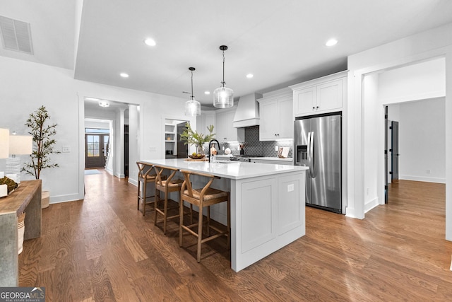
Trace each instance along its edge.
<path fill-rule="evenodd" d="M 343 81 L 331 81 L 317 86 L 317 111 L 342 108 Z"/>

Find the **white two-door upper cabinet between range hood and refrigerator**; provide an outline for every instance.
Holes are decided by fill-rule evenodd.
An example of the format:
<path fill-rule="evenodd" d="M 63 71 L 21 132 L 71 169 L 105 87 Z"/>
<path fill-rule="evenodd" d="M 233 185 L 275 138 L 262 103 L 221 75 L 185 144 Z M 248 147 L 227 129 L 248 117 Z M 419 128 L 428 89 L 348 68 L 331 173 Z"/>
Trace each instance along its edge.
<path fill-rule="evenodd" d="M 261 119 L 259 140 L 293 139 L 292 91 L 284 88 L 265 93 L 258 102 Z"/>

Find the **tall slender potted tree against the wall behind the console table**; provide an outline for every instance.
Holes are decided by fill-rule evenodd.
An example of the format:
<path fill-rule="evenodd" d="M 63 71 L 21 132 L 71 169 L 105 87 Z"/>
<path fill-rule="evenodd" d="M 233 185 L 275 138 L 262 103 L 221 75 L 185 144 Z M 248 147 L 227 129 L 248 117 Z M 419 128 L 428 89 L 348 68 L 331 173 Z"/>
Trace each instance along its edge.
<path fill-rule="evenodd" d="M 30 113 L 25 126 L 30 128 L 29 134 L 33 137 L 33 151 L 30 155 L 31 162 L 24 163 L 22 171 L 28 175 L 34 176 L 37 180 L 41 177 L 41 171 L 46 168 L 56 168 L 58 163 L 51 163 L 52 153 L 60 153 L 55 150 L 57 141 L 53 139 L 57 134 L 57 124 L 49 124 L 49 113 L 44 106 L 37 108 L 35 112 Z M 42 209 L 49 207 L 50 194 L 48 191 L 42 191 Z"/>

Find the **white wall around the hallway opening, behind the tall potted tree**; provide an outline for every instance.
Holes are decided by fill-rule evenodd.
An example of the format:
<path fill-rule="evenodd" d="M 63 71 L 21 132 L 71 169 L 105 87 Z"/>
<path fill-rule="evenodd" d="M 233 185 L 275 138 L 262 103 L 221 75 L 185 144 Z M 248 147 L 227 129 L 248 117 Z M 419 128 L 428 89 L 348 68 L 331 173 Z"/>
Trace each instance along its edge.
<path fill-rule="evenodd" d="M 52 122 L 58 124 L 57 149 L 71 148 L 70 153 L 52 156 L 59 168 L 42 173 L 43 187 L 51 192 L 52 203 L 83 199 L 85 96 L 140 105 L 139 158 L 163 158 L 162 119 L 166 115 L 185 119 L 182 98 L 78 81 L 69 69 L 18 59 L 0 57 L 0 66 L 0 101 L 5 108 L 0 110 L 0 127 L 26 133 L 23 124 L 28 114 L 44 105 Z M 196 123 L 196 119 L 191 120 Z M 150 146 L 155 147 L 153 151 Z"/>

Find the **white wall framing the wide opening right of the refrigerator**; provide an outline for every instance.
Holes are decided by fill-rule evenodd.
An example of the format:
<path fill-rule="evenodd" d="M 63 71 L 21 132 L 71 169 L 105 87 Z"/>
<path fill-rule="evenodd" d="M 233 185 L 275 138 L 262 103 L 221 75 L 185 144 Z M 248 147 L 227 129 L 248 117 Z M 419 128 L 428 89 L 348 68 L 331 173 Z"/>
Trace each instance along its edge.
<path fill-rule="evenodd" d="M 364 97 L 362 79 L 373 72 L 444 57 L 446 146 L 446 239 L 452 240 L 452 23 L 348 57 L 347 216 L 364 218 Z M 396 102 L 394 102 L 396 103 Z M 379 113 L 377 113 L 379 114 Z M 381 117 L 383 119 L 383 117 Z M 383 144 L 383 141 L 381 141 Z M 383 169 L 383 165 L 381 165 Z M 379 175 L 384 173 L 379 172 Z M 383 180 L 379 180 L 379 187 Z M 383 190 L 381 190 L 383 192 Z M 381 196 L 379 192 L 379 196 Z"/>

